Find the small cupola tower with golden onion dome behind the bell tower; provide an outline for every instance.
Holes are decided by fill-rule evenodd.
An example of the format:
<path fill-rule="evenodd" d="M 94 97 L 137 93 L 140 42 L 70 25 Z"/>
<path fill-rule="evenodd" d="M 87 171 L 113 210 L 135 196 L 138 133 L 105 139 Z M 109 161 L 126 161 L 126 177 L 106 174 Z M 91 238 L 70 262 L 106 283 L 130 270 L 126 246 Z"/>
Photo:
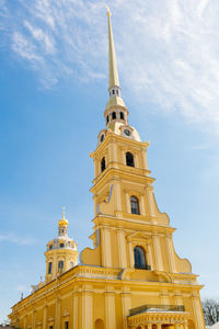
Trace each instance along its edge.
<path fill-rule="evenodd" d="M 46 246 L 46 283 L 78 264 L 78 245 L 68 237 L 68 224 L 62 207 L 62 217 L 58 222 L 58 237 Z"/>

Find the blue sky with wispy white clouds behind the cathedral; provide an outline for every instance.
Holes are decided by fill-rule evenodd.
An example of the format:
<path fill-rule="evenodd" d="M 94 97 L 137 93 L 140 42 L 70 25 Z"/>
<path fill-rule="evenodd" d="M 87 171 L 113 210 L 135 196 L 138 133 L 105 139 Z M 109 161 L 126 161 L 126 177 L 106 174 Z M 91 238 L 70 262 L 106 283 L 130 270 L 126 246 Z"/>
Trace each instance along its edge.
<path fill-rule="evenodd" d="M 149 140 L 159 208 L 177 253 L 219 286 L 218 1 L 110 1 L 129 123 Z M 107 23 L 102 1 L 0 0 L 0 321 L 45 274 L 61 206 L 91 246 L 89 154 L 104 127 Z"/>

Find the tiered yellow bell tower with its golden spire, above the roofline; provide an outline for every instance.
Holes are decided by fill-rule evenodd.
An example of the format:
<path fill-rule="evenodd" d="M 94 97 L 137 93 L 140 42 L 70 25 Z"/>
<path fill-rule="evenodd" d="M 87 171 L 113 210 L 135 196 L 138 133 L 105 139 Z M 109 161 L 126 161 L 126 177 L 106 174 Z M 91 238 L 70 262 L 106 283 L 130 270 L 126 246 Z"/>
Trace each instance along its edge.
<path fill-rule="evenodd" d="M 94 250 L 84 249 L 81 262 L 106 268 L 137 269 L 168 273 L 191 273 L 191 263 L 181 260 L 173 247 L 166 214 L 158 208 L 154 179 L 147 162 L 148 141 L 142 141 L 128 122 L 122 99 L 116 55 L 108 21 L 108 92 L 106 128 L 97 136 L 94 180 Z"/>

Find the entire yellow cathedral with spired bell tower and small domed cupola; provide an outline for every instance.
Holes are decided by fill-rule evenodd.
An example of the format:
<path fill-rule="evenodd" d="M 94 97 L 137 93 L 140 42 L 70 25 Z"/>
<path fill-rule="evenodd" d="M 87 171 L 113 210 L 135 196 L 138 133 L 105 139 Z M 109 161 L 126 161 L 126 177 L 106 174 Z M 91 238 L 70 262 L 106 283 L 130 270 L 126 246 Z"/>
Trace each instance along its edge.
<path fill-rule="evenodd" d="M 199 291 L 187 259 L 174 249 L 170 219 L 158 208 L 147 163 L 148 141 L 129 125 L 108 22 L 105 128 L 91 154 L 93 249 L 68 237 L 68 220 L 45 251 L 44 282 L 12 307 L 21 329 L 205 329 Z"/>

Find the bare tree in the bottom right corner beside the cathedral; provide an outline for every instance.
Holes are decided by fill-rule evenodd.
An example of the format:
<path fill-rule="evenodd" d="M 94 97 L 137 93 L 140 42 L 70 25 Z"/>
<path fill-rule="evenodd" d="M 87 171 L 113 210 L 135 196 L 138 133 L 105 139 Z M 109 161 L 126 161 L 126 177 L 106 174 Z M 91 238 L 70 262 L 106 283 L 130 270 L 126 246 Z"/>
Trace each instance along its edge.
<path fill-rule="evenodd" d="M 219 300 L 203 300 L 203 311 L 206 326 L 212 326 L 214 324 L 217 324 L 219 321 Z"/>

